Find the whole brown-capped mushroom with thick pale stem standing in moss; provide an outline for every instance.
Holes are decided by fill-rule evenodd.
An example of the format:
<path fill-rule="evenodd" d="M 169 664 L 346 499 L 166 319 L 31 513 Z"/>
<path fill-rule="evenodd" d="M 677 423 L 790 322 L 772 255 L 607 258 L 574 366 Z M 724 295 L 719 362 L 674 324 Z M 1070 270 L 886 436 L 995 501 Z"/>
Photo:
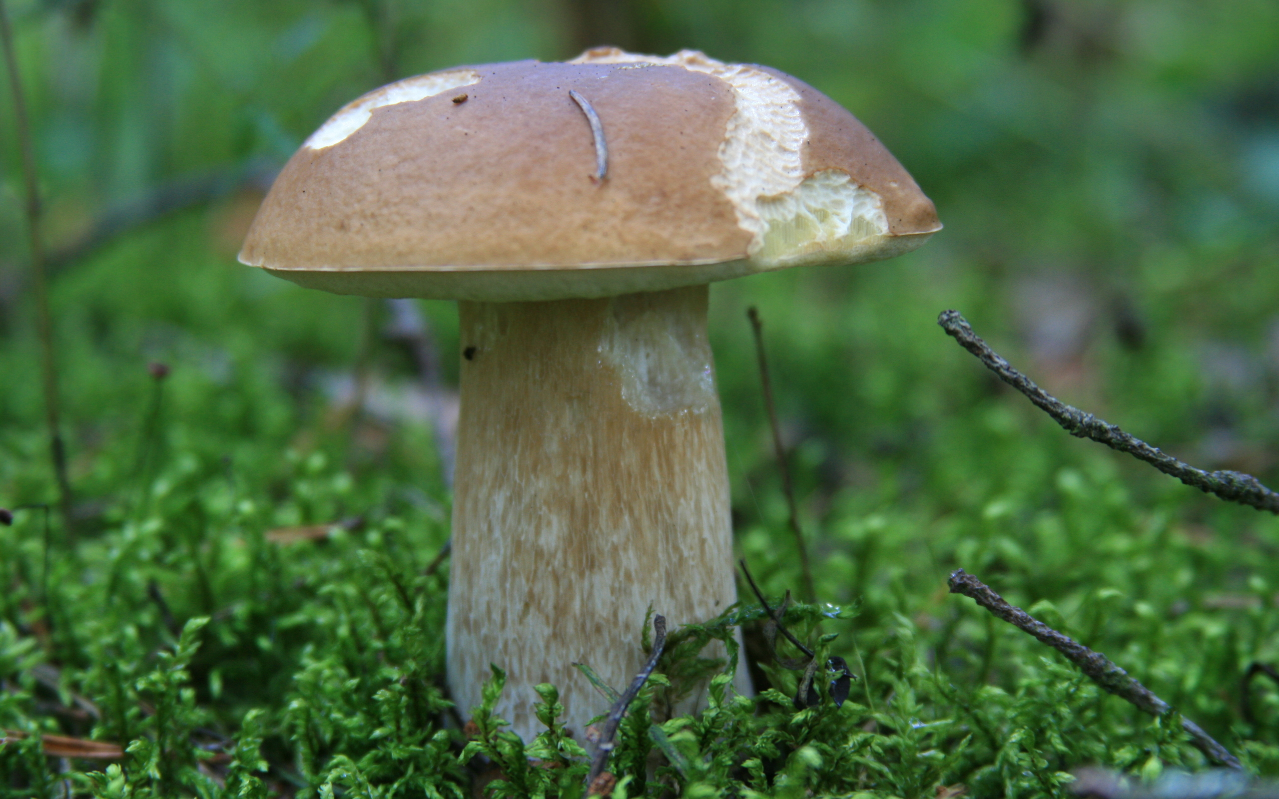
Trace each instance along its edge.
<path fill-rule="evenodd" d="M 596 49 L 356 100 L 289 160 L 240 261 L 459 300 L 448 680 L 466 711 L 503 667 L 496 712 L 531 740 L 533 685 L 560 688 L 581 735 L 606 701 L 572 663 L 622 688 L 650 607 L 678 625 L 737 598 L 707 284 L 939 229 L 870 130 L 796 78 Z"/>

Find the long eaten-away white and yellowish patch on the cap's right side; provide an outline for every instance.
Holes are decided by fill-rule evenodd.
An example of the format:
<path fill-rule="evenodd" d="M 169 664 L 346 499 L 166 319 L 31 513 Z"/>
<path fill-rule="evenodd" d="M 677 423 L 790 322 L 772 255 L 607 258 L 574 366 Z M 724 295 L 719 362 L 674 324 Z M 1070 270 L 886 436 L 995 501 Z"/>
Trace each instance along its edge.
<path fill-rule="evenodd" d="M 724 64 L 696 50 L 671 56 L 614 47 L 587 50 L 574 64 L 661 64 L 714 75 L 733 87 L 737 111 L 728 120 L 711 183 L 732 201 L 738 225 L 751 233 L 752 261 L 776 263 L 819 251 L 836 251 L 888 233 L 883 201 L 843 171 L 807 179 L 803 143 L 808 127 L 799 92 L 748 64 Z"/>

